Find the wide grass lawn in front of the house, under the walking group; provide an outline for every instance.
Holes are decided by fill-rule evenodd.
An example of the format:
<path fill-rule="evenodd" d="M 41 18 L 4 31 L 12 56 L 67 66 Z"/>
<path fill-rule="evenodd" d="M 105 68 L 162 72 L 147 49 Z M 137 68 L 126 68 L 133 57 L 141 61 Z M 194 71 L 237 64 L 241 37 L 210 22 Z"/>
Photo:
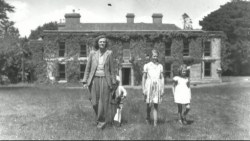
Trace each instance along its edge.
<path fill-rule="evenodd" d="M 159 126 L 145 124 L 139 89 L 128 89 L 124 125 L 97 130 L 83 89 L 0 88 L 0 139 L 250 139 L 250 83 L 194 87 L 189 125 L 177 122 L 170 88 L 159 107 Z"/>

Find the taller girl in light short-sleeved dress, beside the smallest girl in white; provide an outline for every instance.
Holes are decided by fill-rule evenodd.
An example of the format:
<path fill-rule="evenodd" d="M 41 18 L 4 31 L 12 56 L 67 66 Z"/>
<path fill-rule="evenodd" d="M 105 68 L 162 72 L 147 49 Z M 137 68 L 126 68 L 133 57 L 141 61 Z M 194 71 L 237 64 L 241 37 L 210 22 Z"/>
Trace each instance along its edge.
<path fill-rule="evenodd" d="M 152 50 L 152 61 L 143 67 L 142 90 L 147 103 L 146 122 L 150 124 L 151 107 L 153 107 L 154 126 L 157 126 L 158 104 L 164 93 L 163 67 L 158 62 L 159 53 Z"/>

